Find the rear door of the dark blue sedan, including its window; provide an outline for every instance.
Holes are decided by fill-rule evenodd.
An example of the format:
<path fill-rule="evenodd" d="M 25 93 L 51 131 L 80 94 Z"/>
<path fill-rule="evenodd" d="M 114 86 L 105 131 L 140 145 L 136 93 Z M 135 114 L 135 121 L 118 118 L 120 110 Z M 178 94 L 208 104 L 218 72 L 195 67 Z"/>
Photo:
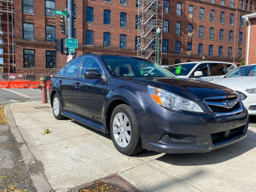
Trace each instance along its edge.
<path fill-rule="evenodd" d="M 75 89 L 75 79 L 78 74 L 78 68 L 82 61 L 82 57 L 74 59 L 68 63 L 68 65 L 63 68 L 62 78 L 58 79 L 60 84 L 60 102 L 62 110 L 74 112 L 75 102 L 74 102 L 74 89 Z"/>

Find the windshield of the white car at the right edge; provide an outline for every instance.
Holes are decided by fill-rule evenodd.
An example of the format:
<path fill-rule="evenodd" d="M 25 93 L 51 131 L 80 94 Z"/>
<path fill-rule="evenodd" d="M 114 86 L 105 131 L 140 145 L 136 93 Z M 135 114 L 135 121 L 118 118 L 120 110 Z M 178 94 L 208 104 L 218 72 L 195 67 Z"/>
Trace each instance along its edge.
<path fill-rule="evenodd" d="M 228 77 L 245 77 L 245 76 L 256 76 L 256 66 L 244 66 L 239 67 L 231 71 L 226 75 Z"/>

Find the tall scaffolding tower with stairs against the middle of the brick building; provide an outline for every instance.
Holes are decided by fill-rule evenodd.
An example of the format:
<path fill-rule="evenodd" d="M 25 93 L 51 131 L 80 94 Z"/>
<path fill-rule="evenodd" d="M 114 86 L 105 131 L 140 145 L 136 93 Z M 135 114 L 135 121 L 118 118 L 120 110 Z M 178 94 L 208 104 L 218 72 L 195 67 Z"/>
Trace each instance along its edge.
<path fill-rule="evenodd" d="M 159 35 L 159 64 L 162 61 L 163 0 L 138 0 L 137 57 L 156 61 L 157 28 Z"/>

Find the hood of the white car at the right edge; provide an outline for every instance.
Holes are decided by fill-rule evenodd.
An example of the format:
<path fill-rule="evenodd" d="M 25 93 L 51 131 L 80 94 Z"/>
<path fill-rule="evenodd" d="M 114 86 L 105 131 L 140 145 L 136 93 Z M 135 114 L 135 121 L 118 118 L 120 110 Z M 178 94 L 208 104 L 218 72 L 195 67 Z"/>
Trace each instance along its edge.
<path fill-rule="evenodd" d="M 256 88 L 256 77 L 247 76 L 247 77 L 228 77 L 214 79 L 211 83 L 226 87 L 244 87 L 246 89 Z"/>

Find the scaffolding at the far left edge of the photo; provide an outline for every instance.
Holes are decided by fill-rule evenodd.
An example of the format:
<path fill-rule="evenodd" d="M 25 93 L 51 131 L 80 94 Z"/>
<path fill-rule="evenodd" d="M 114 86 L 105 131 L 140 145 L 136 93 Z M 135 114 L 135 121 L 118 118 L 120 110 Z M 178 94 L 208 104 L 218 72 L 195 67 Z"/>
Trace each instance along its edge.
<path fill-rule="evenodd" d="M 0 74 L 15 73 L 14 2 L 0 0 Z"/>

